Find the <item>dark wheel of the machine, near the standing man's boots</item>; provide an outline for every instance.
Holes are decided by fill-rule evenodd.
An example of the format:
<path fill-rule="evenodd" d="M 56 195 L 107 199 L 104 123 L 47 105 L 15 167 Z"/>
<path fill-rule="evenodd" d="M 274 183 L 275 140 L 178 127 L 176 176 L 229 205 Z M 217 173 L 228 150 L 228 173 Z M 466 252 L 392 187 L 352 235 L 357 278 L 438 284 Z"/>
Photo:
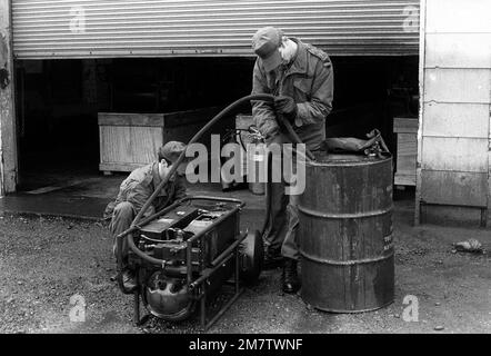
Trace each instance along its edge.
<path fill-rule="evenodd" d="M 258 280 L 264 258 L 264 247 L 261 234 L 255 230 L 249 233 L 248 237 L 240 245 L 240 278 L 252 284 Z"/>

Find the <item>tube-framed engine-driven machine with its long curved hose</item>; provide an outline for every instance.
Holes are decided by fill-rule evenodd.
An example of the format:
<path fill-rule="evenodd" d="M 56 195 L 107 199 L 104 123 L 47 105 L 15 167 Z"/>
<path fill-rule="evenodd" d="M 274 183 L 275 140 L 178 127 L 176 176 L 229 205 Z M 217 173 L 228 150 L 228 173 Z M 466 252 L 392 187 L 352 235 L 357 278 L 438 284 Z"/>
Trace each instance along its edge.
<path fill-rule="evenodd" d="M 188 145 L 194 144 L 216 122 L 250 100 L 272 101 L 273 97 L 253 95 L 234 101 L 198 131 Z M 186 152 L 180 155 L 131 227 L 117 237 L 117 279 L 124 294 L 133 295 L 134 324 L 142 325 L 150 315 L 179 322 L 198 312 L 201 328 L 207 330 L 237 300 L 243 286 L 259 278 L 263 243 L 258 230 L 240 231 L 244 202 L 238 199 L 188 197 L 142 218 L 184 156 Z M 137 276 L 137 286 L 132 289 L 124 286 L 122 278 L 123 239 L 129 246 L 128 267 Z M 221 303 L 219 299 L 227 287 L 231 289 L 230 297 Z M 143 317 L 140 315 L 141 304 L 149 312 Z"/>

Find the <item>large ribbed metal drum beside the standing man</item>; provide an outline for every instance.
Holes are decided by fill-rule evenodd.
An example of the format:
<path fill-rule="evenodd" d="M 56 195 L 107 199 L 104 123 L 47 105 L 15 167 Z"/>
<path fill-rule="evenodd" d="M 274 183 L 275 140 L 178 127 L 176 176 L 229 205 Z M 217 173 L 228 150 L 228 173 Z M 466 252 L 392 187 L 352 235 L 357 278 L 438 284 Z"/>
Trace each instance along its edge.
<path fill-rule="evenodd" d="M 392 157 L 317 155 L 299 198 L 302 299 L 357 313 L 394 298 Z"/>

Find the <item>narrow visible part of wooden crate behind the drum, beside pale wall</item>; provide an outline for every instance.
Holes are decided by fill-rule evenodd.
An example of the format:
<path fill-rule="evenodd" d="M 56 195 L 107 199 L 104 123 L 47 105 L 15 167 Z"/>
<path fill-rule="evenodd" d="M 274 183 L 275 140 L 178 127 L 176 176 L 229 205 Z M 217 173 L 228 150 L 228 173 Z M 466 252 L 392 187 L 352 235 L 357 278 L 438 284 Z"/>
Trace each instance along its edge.
<path fill-rule="evenodd" d="M 393 131 L 398 136 L 394 185 L 415 186 L 418 118 L 394 118 Z"/>

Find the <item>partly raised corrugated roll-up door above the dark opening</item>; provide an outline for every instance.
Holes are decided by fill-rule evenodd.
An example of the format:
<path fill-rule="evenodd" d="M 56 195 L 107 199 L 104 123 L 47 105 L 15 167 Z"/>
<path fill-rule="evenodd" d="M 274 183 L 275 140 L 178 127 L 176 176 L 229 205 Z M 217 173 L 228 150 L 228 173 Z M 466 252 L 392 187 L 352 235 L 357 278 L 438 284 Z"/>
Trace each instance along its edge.
<path fill-rule="evenodd" d="M 17 58 L 251 56 L 262 26 L 330 55 L 418 55 L 419 0 L 12 0 Z"/>

